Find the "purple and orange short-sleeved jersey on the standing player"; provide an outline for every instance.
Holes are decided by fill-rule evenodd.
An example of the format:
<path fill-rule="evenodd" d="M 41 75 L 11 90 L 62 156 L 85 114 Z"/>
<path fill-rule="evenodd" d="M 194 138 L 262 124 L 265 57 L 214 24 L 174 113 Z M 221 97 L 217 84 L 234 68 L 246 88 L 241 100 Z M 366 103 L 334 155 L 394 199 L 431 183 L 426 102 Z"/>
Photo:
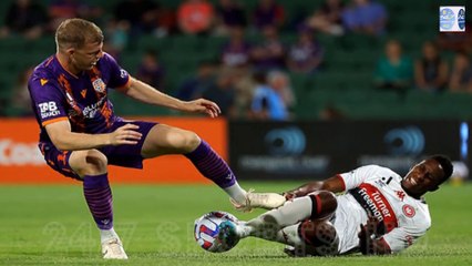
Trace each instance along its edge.
<path fill-rule="evenodd" d="M 68 72 L 52 55 L 39 64 L 29 82 L 33 111 L 40 125 L 40 142 L 50 143 L 45 125 L 69 120 L 72 132 L 107 133 L 115 121 L 109 88 L 126 88 L 129 73 L 104 53 L 96 65 L 79 75 Z"/>

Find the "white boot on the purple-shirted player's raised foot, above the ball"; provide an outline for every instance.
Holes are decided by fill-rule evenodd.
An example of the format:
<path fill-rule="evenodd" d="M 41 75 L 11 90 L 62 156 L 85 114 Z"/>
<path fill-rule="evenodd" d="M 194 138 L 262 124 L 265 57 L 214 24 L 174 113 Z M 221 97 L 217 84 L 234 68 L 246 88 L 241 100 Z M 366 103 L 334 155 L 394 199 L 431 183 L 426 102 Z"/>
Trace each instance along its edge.
<path fill-rule="evenodd" d="M 240 212 L 250 212 L 253 208 L 273 209 L 280 207 L 287 201 L 285 196 L 277 193 L 254 193 L 249 190 L 246 194 L 246 202 L 239 203 L 229 198 L 233 206 Z"/>

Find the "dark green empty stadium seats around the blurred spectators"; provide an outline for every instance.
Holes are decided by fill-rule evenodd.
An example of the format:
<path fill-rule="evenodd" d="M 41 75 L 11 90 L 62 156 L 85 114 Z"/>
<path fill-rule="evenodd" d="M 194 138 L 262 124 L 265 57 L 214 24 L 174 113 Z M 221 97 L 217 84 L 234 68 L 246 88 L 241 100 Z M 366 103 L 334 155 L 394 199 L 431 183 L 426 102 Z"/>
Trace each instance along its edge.
<path fill-rule="evenodd" d="M 86 2 L 98 4 L 104 10 L 112 10 L 113 1 L 99 0 Z M 175 9 L 178 1 L 160 0 L 162 6 Z M 216 3 L 216 0 L 212 0 Z M 319 6 L 319 2 L 305 0 L 279 1 L 286 9 L 287 23 L 300 16 L 309 13 Z M 315 74 L 290 73 L 291 83 L 298 99 L 295 106 L 295 116 L 298 119 L 317 119 L 318 112 L 327 105 L 334 105 L 352 119 L 471 119 L 472 95 L 442 93 L 431 94 L 411 89 L 401 96 L 392 92 L 377 91 L 372 86 L 372 73 L 376 62 L 383 53 L 383 44 L 389 39 L 398 39 L 404 45 L 404 52 L 412 58 L 419 57 L 421 45 L 427 40 L 434 40 L 438 34 L 437 8 L 439 0 L 433 1 L 397 1 L 384 0 L 382 3 L 389 10 L 388 34 L 383 37 L 366 37 L 347 34 L 331 37 L 318 34 L 319 42 L 325 48 L 325 64 Z M 243 0 L 243 6 L 249 14 L 257 1 Z M 4 10 L 9 1 L 1 1 L 0 21 L 3 21 Z M 421 10 L 419 12 L 418 10 Z M 401 16 L 400 16 L 401 13 Z M 433 21 L 433 22 L 432 22 Z M 290 43 L 297 35 L 287 25 L 281 33 L 281 40 Z M 259 37 L 249 34 L 252 41 Z M 192 37 L 171 35 L 156 38 L 143 35 L 133 39 L 126 47 L 121 64 L 131 73 L 135 73 L 142 54 L 146 50 L 155 50 L 161 63 L 165 68 L 167 93 L 174 93 L 182 81 L 192 75 L 198 63 L 205 60 L 217 59 L 222 44 L 226 41 L 222 37 Z M 54 52 L 55 45 L 51 35 L 34 41 L 25 41 L 19 37 L 11 37 L 0 41 L 0 103 L 11 98 L 11 89 L 18 73 L 30 65 L 38 64 Z M 451 60 L 451 54 L 445 54 Z M 116 110 L 122 114 L 152 115 L 156 109 L 148 105 L 136 105 L 135 102 L 123 101 L 123 96 L 112 94 L 116 101 Z M 136 108 L 138 106 L 138 108 Z M 174 114 L 157 110 L 158 114 Z M 10 112 L 14 115 L 14 112 Z"/>

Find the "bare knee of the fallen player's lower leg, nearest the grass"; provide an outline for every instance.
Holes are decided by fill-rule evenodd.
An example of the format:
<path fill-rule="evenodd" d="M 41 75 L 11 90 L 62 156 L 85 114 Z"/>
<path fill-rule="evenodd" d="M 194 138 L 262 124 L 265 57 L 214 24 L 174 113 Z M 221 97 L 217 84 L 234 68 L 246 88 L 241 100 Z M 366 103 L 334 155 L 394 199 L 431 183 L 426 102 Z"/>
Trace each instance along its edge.
<path fill-rule="evenodd" d="M 298 226 L 298 234 L 307 245 L 330 246 L 337 241 L 335 226 L 329 221 L 306 219 Z"/>

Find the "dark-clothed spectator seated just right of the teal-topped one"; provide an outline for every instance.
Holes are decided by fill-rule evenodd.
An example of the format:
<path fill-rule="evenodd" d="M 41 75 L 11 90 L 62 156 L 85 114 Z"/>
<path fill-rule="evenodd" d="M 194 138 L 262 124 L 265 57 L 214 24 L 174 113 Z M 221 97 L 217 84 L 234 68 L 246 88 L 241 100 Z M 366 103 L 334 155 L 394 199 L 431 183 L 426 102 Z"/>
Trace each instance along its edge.
<path fill-rule="evenodd" d="M 448 63 L 441 59 L 438 47 L 432 42 L 423 44 L 423 55 L 414 63 L 414 81 L 423 91 L 443 91 L 448 85 Z"/>

